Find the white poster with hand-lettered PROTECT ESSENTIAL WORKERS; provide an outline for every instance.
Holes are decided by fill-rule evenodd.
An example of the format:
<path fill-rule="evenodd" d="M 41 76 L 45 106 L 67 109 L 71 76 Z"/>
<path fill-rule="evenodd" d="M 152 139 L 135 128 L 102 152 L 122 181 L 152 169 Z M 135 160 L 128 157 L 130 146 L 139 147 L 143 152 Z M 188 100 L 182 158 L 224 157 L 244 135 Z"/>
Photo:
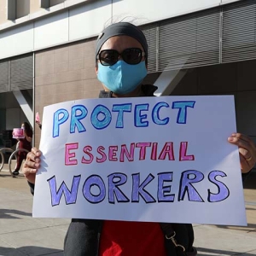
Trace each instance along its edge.
<path fill-rule="evenodd" d="M 246 224 L 233 96 L 44 108 L 33 217 Z"/>

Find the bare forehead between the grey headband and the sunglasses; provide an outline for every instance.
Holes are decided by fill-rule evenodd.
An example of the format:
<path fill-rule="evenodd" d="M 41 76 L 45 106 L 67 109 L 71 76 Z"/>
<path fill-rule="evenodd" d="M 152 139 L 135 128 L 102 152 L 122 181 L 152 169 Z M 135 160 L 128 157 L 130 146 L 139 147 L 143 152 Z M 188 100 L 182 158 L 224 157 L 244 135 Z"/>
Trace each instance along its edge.
<path fill-rule="evenodd" d="M 143 49 L 142 44 L 140 44 L 137 39 L 131 38 L 129 36 L 115 36 L 112 38 L 108 38 L 108 40 L 102 44 L 102 49 L 116 49 L 118 51 L 122 51 L 127 48 L 140 48 Z"/>

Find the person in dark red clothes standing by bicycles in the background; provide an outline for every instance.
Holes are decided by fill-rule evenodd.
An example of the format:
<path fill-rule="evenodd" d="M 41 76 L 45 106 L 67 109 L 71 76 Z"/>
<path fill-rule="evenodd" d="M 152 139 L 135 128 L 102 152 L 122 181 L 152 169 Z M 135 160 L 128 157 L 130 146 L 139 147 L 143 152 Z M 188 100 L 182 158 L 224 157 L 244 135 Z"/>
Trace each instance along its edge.
<path fill-rule="evenodd" d="M 27 151 L 31 151 L 32 149 L 32 128 L 27 122 L 24 122 L 21 125 L 21 129 L 23 129 L 23 137 L 17 138 L 18 140 L 18 148 L 26 149 Z M 19 151 L 18 157 L 17 157 L 17 165 L 15 167 L 15 171 L 13 172 L 13 175 L 17 176 L 19 175 L 20 166 L 22 164 L 22 160 L 26 160 L 26 151 Z"/>

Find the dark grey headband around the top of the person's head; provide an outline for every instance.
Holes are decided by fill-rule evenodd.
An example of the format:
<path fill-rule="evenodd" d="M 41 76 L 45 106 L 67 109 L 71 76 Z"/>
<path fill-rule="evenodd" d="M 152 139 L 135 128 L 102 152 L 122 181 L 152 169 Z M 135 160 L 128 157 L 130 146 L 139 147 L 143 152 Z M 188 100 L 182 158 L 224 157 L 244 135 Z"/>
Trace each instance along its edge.
<path fill-rule="evenodd" d="M 129 36 L 135 38 L 140 44 L 143 45 L 143 49 L 148 56 L 148 44 L 143 32 L 135 25 L 129 22 L 114 23 L 106 27 L 97 38 L 96 42 L 96 56 L 99 54 L 102 44 L 104 44 L 109 38 L 115 36 Z"/>

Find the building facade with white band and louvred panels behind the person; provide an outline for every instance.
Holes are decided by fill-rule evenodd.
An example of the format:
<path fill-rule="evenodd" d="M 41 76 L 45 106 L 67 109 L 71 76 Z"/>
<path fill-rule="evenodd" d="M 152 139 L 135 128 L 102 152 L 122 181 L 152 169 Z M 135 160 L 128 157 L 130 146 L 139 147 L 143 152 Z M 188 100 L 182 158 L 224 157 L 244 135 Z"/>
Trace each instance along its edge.
<path fill-rule="evenodd" d="M 38 146 L 36 112 L 97 97 L 96 37 L 120 20 L 148 39 L 144 83 L 157 96 L 232 94 L 237 130 L 256 138 L 255 9 L 253 0 L 0 0 L 0 138 L 28 120 Z"/>

